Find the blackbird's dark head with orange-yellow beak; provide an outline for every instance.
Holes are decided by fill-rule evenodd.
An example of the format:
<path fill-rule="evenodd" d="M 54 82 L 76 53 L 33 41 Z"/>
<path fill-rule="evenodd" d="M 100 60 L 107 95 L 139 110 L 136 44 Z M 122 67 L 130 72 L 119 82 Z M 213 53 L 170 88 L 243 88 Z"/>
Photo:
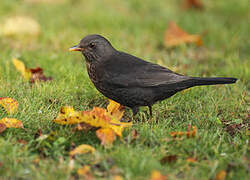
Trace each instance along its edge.
<path fill-rule="evenodd" d="M 101 61 L 115 52 L 110 42 L 104 37 L 93 34 L 85 36 L 78 45 L 69 51 L 81 51 L 88 62 Z"/>

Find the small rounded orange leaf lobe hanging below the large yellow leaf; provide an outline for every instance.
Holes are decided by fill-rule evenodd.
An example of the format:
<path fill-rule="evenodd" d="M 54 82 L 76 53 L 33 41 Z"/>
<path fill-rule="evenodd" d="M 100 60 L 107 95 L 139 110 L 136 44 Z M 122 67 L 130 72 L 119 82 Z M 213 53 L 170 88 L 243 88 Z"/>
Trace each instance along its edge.
<path fill-rule="evenodd" d="M 96 131 L 96 136 L 101 140 L 101 145 L 110 146 L 113 144 L 116 135 L 110 128 L 101 128 Z"/>

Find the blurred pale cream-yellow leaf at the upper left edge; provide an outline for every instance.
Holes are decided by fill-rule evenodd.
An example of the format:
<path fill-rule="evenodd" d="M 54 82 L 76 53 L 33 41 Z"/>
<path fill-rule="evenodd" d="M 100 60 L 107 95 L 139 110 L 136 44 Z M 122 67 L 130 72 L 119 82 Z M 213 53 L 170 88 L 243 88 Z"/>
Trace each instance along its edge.
<path fill-rule="evenodd" d="M 0 33 L 4 36 L 37 36 L 40 34 L 40 25 L 31 17 L 10 17 L 1 25 Z"/>

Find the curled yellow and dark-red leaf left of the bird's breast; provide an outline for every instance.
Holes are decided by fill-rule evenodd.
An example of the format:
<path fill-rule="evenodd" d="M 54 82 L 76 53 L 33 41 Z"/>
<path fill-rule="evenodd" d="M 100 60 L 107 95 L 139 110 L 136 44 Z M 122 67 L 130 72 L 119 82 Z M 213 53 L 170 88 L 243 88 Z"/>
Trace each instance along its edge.
<path fill-rule="evenodd" d="M 27 69 L 24 63 L 16 58 L 12 60 L 15 68 L 22 74 L 24 79 L 29 80 L 30 83 L 37 81 L 51 81 L 52 77 L 46 77 L 43 74 L 43 69 L 40 67 Z"/>

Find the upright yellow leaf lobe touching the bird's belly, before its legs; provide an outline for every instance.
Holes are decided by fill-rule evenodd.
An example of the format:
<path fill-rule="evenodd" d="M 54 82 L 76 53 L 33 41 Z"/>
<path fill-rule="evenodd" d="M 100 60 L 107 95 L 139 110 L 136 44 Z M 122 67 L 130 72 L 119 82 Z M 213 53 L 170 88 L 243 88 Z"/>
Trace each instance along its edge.
<path fill-rule="evenodd" d="M 117 120 L 120 120 L 124 114 L 124 106 L 109 99 L 107 111 L 112 117 L 116 118 Z"/>

